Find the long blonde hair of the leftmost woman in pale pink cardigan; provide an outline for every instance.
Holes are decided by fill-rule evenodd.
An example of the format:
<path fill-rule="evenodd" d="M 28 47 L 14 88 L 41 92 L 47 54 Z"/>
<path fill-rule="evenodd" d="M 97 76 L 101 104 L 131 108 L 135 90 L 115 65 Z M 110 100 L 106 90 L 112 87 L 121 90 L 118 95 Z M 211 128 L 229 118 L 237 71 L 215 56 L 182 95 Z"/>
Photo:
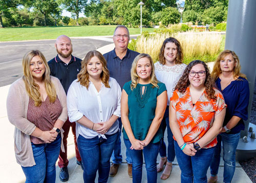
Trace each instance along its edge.
<path fill-rule="evenodd" d="M 40 87 L 38 84 L 34 82 L 32 73 L 30 71 L 30 61 L 34 56 L 39 56 L 45 65 L 46 71 L 42 75 L 42 80 L 45 83 L 46 93 L 50 99 L 50 102 L 54 103 L 57 98 L 57 94 L 55 87 L 50 79 L 50 68 L 47 64 L 45 56 L 39 50 L 31 50 L 28 53 L 26 53 L 23 57 L 23 80 L 25 82 L 26 91 L 29 97 L 35 102 L 35 106 L 40 106 L 42 103 Z"/>

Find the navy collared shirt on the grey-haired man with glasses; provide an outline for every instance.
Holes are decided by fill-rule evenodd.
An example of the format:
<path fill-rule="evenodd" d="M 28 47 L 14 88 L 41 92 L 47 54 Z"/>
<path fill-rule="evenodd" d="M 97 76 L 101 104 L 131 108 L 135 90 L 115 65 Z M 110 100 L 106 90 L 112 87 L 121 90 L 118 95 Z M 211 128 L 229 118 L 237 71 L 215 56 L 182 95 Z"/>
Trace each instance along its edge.
<path fill-rule="evenodd" d="M 115 78 L 121 88 L 123 88 L 124 83 L 131 80 L 131 67 L 137 55 L 139 55 L 138 52 L 129 49 L 127 49 L 123 59 L 116 55 L 115 49 L 103 55 L 110 71 L 110 77 Z"/>

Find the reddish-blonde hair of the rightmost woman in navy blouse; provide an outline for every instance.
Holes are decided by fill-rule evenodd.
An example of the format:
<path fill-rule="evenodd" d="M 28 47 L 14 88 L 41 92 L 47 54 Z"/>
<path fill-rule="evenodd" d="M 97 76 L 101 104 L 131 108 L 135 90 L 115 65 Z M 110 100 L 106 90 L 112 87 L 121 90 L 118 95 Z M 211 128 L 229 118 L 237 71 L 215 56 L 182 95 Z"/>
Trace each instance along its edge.
<path fill-rule="evenodd" d="M 216 61 L 214 62 L 214 68 L 212 69 L 212 72 L 211 72 L 211 77 L 214 81 L 217 80 L 217 78 L 220 76 L 220 74 L 222 73 L 221 72 L 221 66 L 220 66 L 220 61 L 222 59 L 224 59 L 225 56 L 227 55 L 231 55 L 234 59 L 234 62 L 236 62 L 236 65 L 234 66 L 234 70 L 233 70 L 233 78 L 236 78 L 236 77 L 242 77 L 242 78 L 246 78 L 245 74 L 243 73 L 240 73 L 241 71 L 241 65 L 240 65 L 240 61 L 239 61 L 239 58 L 237 56 L 236 53 L 234 53 L 234 51 L 231 51 L 231 50 L 224 50 L 223 52 L 220 53 L 220 55 L 218 56 L 218 58 L 216 59 Z"/>

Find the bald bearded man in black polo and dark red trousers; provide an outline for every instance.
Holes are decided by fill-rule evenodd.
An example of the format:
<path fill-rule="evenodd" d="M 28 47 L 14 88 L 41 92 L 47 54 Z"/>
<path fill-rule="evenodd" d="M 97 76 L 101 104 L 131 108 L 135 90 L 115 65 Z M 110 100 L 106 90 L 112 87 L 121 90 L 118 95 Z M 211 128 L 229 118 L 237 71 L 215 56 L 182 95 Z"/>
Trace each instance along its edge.
<path fill-rule="evenodd" d="M 57 37 L 55 42 L 55 48 L 57 51 L 57 56 L 51 59 L 48 64 L 51 70 L 51 75 L 57 77 L 63 88 L 68 93 L 68 89 L 70 84 L 77 79 L 77 74 L 81 69 L 81 59 L 74 57 L 72 55 L 72 43 L 71 39 L 66 35 L 60 35 Z M 65 131 L 63 133 L 63 145 L 65 147 L 65 152 L 60 150 L 59 153 L 59 162 L 58 166 L 60 168 L 59 179 L 61 181 L 69 180 L 69 172 L 68 172 L 68 158 L 67 158 L 67 138 L 69 134 L 70 127 L 72 127 L 72 132 L 74 134 L 74 142 L 75 142 L 75 151 L 77 164 L 82 166 L 81 156 L 79 154 L 77 143 L 76 143 L 76 124 L 71 123 L 69 119 L 64 123 L 62 129 Z"/>

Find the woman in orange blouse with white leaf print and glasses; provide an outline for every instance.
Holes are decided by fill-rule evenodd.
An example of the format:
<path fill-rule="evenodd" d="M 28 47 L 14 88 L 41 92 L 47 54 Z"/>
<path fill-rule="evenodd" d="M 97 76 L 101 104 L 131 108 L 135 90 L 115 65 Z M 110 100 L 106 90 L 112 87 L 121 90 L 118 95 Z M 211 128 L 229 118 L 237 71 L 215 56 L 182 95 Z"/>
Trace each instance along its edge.
<path fill-rule="evenodd" d="M 216 136 L 222 129 L 226 104 L 212 86 L 207 65 L 190 62 L 170 99 L 169 125 L 181 169 L 181 182 L 206 182 Z"/>

